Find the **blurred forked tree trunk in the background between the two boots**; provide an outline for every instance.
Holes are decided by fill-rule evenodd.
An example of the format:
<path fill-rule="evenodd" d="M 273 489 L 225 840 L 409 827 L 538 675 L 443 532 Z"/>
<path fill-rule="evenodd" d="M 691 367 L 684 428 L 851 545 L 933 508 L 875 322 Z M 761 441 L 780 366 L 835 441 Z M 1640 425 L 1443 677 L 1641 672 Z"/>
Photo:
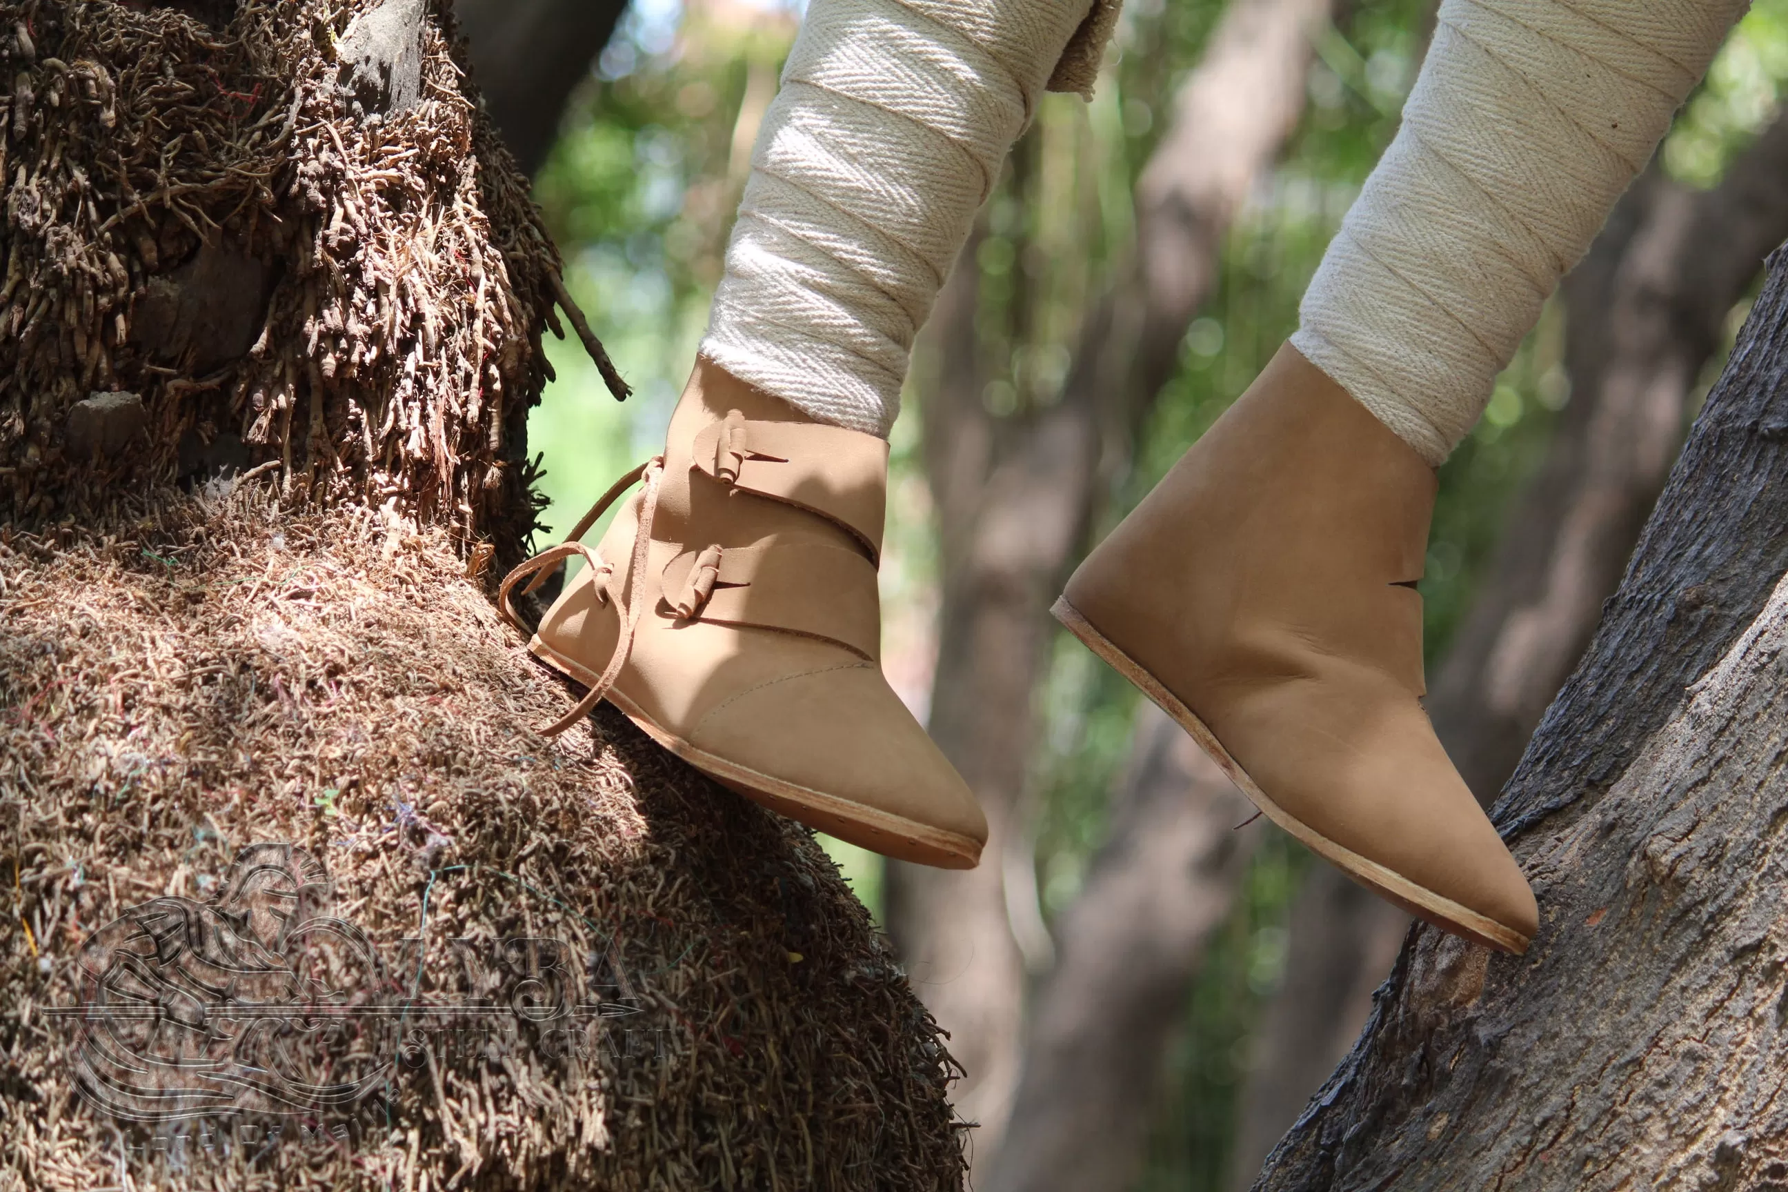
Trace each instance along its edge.
<path fill-rule="evenodd" d="M 987 860 L 967 874 L 892 865 L 889 928 L 967 1076 L 976 1163 L 999 1151 L 1017 1081 L 1023 956 L 1005 886 L 1028 867 L 1021 795 L 1032 692 L 1053 599 L 1178 345 L 1216 279 L 1218 250 L 1303 111 L 1309 29 L 1327 0 L 1237 0 L 1182 86 L 1137 186 L 1137 245 L 1089 311 L 1058 402 L 994 416 L 974 334 L 974 257 L 946 288 L 935 384 L 921 386 L 939 509 L 942 615 L 932 735 L 987 808 Z"/>

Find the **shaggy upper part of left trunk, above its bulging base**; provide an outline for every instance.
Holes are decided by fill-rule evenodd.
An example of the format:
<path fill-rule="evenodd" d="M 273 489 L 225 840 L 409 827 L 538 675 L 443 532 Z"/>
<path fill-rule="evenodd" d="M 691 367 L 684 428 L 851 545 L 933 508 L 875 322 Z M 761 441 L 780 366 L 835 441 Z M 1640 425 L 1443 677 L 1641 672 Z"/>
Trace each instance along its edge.
<path fill-rule="evenodd" d="M 0 516 L 277 461 L 511 561 L 558 254 L 451 29 L 191 7 L 0 7 Z"/>

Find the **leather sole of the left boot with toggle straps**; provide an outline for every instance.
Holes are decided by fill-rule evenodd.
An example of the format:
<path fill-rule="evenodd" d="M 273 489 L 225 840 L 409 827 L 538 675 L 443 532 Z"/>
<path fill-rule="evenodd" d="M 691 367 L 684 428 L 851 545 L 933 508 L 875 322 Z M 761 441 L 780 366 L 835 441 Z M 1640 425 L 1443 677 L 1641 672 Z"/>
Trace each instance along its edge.
<path fill-rule="evenodd" d="M 585 686 L 594 686 L 601 677 L 588 667 L 554 651 L 540 640 L 540 634 L 535 634 L 527 642 L 527 652 Z M 753 770 L 747 765 L 728 761 L 719 754 L 690 745 L 676 733 L 662 727 L 617 688 L 610 688 L 604 699 L 619 708 L 620 715 L 637 724 L 642 733 L 678 758 L 728 790 L 735 790 L 778 815 L 787 815 L 799 824 L 899 861 L 915 861 L 935 869 L 974 869 L 980 865 L 982 844 L 973 836 L 930 827 L 917 820 L 878 811 L 851 799 L 810 790 Z"/>

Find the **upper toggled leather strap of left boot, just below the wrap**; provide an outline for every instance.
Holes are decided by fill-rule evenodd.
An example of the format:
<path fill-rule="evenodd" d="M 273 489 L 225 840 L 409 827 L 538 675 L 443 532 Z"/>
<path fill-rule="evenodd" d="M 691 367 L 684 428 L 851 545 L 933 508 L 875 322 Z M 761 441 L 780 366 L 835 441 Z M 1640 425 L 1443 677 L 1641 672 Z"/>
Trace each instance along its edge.
<path fill-rule="evenodd" d="M 881 558 L 889 445 L 817 422 L 758 422 L 737 409 L 696 434 L 694 466 L 721 484 L 837 522 Z"/>

